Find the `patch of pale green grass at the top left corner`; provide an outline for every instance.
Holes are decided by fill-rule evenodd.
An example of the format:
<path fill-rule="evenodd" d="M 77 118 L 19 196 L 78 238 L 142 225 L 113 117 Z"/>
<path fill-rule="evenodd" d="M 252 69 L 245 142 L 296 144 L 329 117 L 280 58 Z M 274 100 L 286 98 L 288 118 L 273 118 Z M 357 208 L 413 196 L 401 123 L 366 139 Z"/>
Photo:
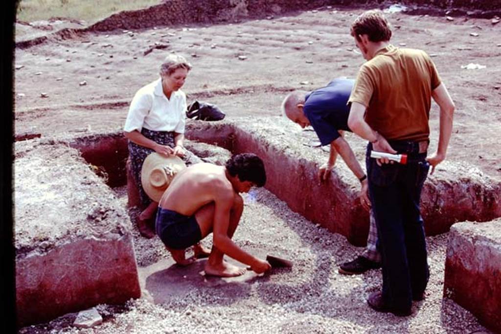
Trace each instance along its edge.
<path fill-rule="evenodd" d="M 66 18 L 95 23 L 113 13 L 157 5 L 160 0 L 20 0 L 17 19 L 25 22 Z"/>

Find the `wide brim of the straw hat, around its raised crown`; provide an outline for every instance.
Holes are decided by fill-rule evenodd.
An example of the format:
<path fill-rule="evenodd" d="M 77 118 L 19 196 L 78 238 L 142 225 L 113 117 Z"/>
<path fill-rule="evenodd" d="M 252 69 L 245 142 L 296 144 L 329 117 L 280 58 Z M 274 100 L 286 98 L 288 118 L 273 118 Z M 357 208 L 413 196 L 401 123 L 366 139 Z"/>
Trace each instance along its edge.
<path fill-rule="evenodd" d="M 152 171 L 158 168 L 165 168 L 173 175 L 169 175 L 167 177 L 165 184 L 160 187 L 155 187 L 151 184 L 150 177 Z M 153 201 L 159 202 L 165 192 L 165 189 L 168 188 L 174 176 L 184 168 L 186 168 L 186 164 L 178 156 L 164 156 L 156 152 L 149 154 L 146 159 L 144 159 L 143 166 L 141 168 L 141 185 L 144 192 Z"/>

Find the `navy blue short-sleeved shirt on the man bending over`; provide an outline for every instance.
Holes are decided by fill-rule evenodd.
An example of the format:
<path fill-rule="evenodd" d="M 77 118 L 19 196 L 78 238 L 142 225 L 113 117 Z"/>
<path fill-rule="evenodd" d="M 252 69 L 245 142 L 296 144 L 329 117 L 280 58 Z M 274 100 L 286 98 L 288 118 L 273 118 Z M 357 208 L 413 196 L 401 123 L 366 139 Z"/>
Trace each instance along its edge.
<path fill-rule="evenodd" d="M 303 111 L 322 145 L 338 139 L 341 136 L 339 130 L 351 132 L 347 103 L 354 83 L 353 79 L 337 78 L 306 95 Z"/>

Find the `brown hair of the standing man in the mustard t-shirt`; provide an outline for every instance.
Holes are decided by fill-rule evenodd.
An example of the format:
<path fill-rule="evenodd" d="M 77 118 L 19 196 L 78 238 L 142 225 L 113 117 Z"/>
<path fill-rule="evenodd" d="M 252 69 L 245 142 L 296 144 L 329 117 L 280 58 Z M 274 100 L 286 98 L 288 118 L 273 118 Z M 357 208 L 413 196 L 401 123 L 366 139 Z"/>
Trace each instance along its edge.
<path fill-rule="evenodd" d="M 371 42 L 389 41 L 391 38 L 390 25 L 380 10 L 361 14 L 351 25 L 350 33 L 359 42 L 359 35 L 367 35 Z"/>

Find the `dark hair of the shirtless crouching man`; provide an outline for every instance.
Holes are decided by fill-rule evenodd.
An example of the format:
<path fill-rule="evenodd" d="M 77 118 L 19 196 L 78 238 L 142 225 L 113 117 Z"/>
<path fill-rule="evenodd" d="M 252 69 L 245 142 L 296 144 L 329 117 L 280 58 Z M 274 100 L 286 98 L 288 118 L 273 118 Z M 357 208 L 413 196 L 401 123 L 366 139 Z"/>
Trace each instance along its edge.
<path fill-rule="evenodd" d="M 226 170 L 231 176 L 238 176 L 240 181 L 250 181 L 258 187 L 266 183 L 266 171 L 263 160 L 253 153 L 233 155 L 226 161 Z"/>

